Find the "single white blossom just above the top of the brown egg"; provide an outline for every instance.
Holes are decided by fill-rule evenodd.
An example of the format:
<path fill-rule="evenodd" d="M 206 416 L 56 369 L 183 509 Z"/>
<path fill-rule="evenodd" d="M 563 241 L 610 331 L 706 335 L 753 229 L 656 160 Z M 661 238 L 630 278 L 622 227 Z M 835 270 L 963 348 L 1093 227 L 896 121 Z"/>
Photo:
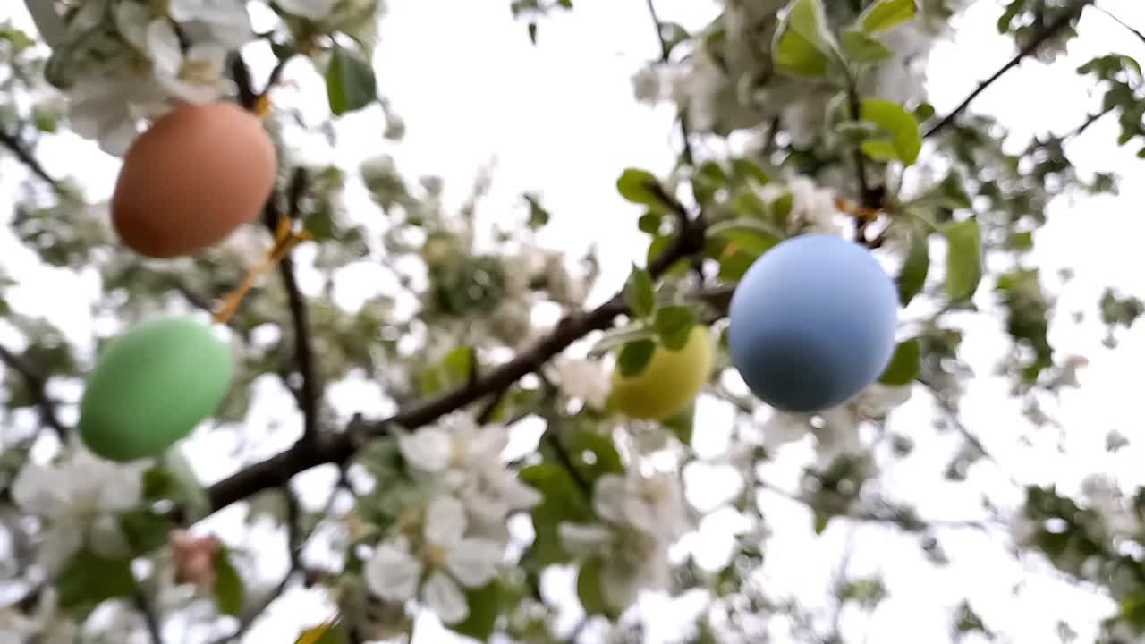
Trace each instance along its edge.
<path fill-rule="evenodd" d="M 172 96 L 206 103 L 222 95 L 227 64 L 227 49 L 222 45 L 200 42 L 184 54 L 175 28 L 165 19 L 148 26 L 147 44 L 156 78 Z"/>

